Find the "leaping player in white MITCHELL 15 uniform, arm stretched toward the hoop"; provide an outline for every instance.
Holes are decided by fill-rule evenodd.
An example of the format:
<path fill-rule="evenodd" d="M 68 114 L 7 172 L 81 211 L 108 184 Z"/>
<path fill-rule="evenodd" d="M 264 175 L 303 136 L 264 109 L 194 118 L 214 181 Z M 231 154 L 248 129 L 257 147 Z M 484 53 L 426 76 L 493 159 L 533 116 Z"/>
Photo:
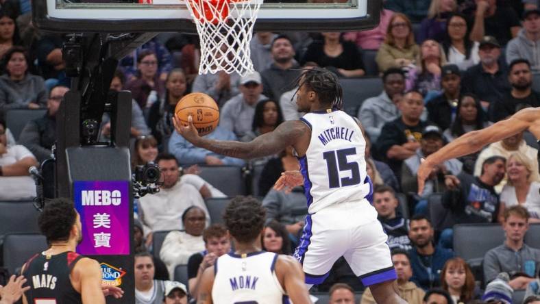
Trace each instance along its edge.
<path fill-rule="evenodd" d="M 286 121 L 251 142 L 201 138 L 189 119 L 177 132 L 197 147 L 239 158 L 273 155 L 293 146 L 300 172 L 284 175 L 282 184 L 304 184 L 308 216 L 295 257 L 311 287 L 322 283 L 343 256 L 380 304 L 406 303 L 393 290 L 396 279 L 387 236 L 375 208 L 366 199 L 373 186 L 367 177 L 365 139 L 360 123 L 341 111 L 339 81 L 323 68 L 304 71 L 297 79 L 297 121 Z"/>

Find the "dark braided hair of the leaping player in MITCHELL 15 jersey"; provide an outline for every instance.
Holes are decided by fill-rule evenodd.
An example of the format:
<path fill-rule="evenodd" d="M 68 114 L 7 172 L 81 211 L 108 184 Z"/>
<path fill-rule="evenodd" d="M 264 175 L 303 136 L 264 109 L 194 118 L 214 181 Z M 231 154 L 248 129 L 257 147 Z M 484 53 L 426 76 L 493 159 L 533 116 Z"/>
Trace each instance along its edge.
<path fill-rule="evenodd" d="M 343 108 L 343 89 L 336 74 L 326 68 L 304 68 L 302 75 L 297 77 L 295 84 L 297 87 L 309 86 L 317 93 L 321 103 L 332 105 L 333 109 Z"/>

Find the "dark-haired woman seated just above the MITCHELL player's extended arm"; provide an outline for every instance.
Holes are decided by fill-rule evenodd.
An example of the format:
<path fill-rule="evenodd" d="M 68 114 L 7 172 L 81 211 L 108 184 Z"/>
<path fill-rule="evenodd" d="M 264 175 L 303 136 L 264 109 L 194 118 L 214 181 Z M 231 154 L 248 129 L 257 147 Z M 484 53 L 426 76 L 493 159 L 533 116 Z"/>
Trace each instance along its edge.
<path fill-rule="evenodd" d="M 250 142 L 256 137 L 271 132 L 283 122 L 280 105 L 271 100 L 263 100 L 255 106 L 255 114 L 251 123 L 251 130 L 240 139 L 242 142 Z"/>

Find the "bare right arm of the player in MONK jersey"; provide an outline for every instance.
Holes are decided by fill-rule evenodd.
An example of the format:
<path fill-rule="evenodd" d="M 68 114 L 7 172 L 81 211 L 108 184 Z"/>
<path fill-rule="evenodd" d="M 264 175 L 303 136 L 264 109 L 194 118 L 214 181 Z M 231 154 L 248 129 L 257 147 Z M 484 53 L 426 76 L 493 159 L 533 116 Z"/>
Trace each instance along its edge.
<path fill-rule="evenodd" d="M 295 304 L 311 304 L 308 288 L 304 283 L 304 271 L 296 259 L 280 255 L 275 262 L 275 275 L 283 289 Z"/>

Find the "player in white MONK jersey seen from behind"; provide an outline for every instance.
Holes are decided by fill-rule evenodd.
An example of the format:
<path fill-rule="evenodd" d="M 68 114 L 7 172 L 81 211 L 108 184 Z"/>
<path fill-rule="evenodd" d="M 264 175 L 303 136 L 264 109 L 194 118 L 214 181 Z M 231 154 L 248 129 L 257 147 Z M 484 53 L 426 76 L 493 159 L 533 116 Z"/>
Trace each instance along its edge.
<path fill-rule="evenodd" d="M 235 197 L 223 220 L 234 253 L 218 257 L 201 278 L 197 303 L 311 303 L 298 262 L 288 255 L 262 251 L 265 208 L 254 197 Z"/>

